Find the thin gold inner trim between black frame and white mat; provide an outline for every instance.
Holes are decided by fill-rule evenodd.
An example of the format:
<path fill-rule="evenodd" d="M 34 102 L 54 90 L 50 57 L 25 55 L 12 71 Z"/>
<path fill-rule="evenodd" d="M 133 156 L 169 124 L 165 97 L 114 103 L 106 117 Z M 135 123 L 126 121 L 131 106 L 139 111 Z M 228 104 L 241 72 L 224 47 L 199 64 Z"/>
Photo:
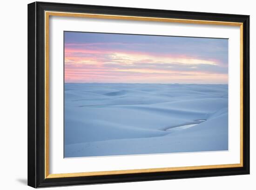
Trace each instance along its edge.
<path fill-rule="evenodd" d="M 171 167 L 171 168 L 150 168 L 150 169 L 139 169 L 139 170 L 112 170 L 112 171 L 96 171 L 96 172 L 81 172 L 81 173 L 49 174 L 49 17 L 50 16 L 240 26 L 240 163 L 239 164 Z M 110 14 L 45 11 L 45 178 L 83 177 L 83 176 L 150 173 L 150 172 L 161 172 L 161 171 L 203 170 L 203 169 L 235 168 L 235 167 L 243 167 L 243 23 L 213 21 L 213 20 L 169 19 L 169 18 L 136 17 L 136 16 L 123 16 L 123 15 L 110 15 Z"/>

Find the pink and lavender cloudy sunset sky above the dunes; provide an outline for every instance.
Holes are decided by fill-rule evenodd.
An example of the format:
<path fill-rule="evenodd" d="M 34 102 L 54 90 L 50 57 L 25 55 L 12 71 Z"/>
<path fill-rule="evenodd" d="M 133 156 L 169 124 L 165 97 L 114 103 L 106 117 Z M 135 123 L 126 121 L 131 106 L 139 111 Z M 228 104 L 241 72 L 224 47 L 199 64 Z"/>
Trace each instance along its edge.
<path fill-rule="evenodd" d="M 228 39 L 64 32 L 66 83 L 228 84 Z"/>

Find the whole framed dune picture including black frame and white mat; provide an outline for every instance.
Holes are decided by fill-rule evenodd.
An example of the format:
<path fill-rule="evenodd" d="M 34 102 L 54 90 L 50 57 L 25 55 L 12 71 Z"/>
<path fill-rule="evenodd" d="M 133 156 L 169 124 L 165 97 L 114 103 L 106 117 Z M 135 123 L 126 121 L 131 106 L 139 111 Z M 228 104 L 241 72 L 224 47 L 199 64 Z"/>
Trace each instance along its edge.
<path fill-rule="evenodd" d="M 28 4 L 28 185 L 249 174 L 249 16 Z"/>

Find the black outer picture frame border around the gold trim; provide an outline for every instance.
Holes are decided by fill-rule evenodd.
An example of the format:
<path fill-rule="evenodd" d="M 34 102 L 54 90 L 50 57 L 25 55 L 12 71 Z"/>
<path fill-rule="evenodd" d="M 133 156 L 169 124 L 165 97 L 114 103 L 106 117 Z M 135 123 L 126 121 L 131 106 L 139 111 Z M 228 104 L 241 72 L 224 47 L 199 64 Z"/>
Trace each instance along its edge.
<path fill-rule="evenodd" d="M 243 23 L 243 167 L 178 170 L 85 177 L 46 178 L 45 166 L 45 11 L 209 20 Z M 249 16 L 128 7 L 34 2 L 28 4 L 28 185 L 34 188 L 94 183 L 249 174 Z"/>

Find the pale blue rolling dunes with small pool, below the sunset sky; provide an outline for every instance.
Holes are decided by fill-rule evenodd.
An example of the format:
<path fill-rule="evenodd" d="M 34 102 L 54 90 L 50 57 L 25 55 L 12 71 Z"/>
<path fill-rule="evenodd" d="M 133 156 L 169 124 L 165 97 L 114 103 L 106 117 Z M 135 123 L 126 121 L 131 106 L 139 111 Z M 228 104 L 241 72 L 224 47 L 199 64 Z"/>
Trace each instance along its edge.
<path fill-rule="evenodd" d="M 228 150 L 228 85 L 65 84 L 64 156 Z"/>

